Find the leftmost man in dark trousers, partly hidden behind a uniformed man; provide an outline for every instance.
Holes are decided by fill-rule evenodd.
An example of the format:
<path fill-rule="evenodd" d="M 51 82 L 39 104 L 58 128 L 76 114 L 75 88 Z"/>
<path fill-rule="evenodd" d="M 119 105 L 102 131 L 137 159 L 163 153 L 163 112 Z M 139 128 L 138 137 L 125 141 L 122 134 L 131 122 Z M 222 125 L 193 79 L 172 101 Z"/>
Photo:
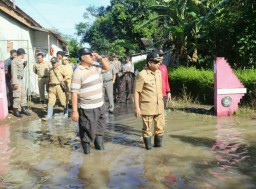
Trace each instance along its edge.
<path fill-rule="evenodd" d="M 8 100 L 8 109 L 9 111 L 13 108 L 13 97 L 12 97 L 12 73 L 11 73 L 11 62 L 17 56 L 16 50 L 10 51 L 10 58 L 4 61 L 4 71 L 5 71 L 5 83 L 6 83 L 6 91 L 7 91 L 7 100 Z"/>

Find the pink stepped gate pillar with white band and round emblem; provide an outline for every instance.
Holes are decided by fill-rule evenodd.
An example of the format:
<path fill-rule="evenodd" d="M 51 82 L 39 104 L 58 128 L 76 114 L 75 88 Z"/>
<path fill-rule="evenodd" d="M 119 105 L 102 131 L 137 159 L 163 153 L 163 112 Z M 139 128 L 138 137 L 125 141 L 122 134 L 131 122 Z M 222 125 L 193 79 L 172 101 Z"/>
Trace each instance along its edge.
<path fill-rule="evenodd" d="M 214 110 L 217 116 L 230 116 L 237 109 L 246 88 L 223 57 L 214 62 Z"/>

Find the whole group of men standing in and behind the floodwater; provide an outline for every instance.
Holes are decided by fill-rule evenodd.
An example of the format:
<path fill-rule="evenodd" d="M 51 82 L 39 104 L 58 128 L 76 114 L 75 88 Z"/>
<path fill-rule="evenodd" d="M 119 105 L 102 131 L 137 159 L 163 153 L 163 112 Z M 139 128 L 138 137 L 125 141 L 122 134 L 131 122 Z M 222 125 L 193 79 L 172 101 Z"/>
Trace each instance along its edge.
<path fill-rule="evenodd" d="M 24 49 L 11 51 L 10 59 L 5 62 L 9 105 L 13 106 L 13 114 L 17 117 L 21 117 L 21 114 L 30 115 L 23 81 L 25 54 Z M 103 150 L 106 122 L 104 93 L 107 93 L 109 99 L 108 111 L 113 113 L 114 99 L 118 102 L 129 100 L 134 83 L 135 116 L 142 116 L 145 148 L 151 149 L 152 136 L 154 146 L 161 147 L 165 124 L 164 107 L 171 99 L 167 68 L 162 65 L 163 52 L 154 51 L 147 55 L 147 65 L 137 75 L 135 82 L 134 66 L 129 56 L 125 57 L 122 65 L 116 53 L 112 54 L 110 61 L 86 48 L 80 49 L 78 55 L 80 62 L 74 69 L 62 51 L 57 52 L 57 57 L 51 58 L 51 64 L 44 61 L 42 53 L 37 54 L 33 71 L 38 75 L 41 103 L 47 103 L 45 90 L 48 92 L 47 115 L 43 120 L 52 118 L 57 98 L 64 107 L 64 116 L 68 117 L 68 103 L 72 93 L 72 120 L 79 122 L 84 153 L 90 153 L 91 142 L 95 149 Z M 19 106 L 21 112 L 18 111 Z M 152 125 L 155 127 L 153 133 Z"/>

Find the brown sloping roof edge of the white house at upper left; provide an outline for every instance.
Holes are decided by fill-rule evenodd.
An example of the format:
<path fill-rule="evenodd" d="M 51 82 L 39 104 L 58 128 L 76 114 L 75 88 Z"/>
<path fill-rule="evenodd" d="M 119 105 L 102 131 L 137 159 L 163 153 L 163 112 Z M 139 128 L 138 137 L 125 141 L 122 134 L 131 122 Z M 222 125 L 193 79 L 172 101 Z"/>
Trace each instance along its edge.
<path fill-rule="evenodd" d="M 13 2 L 11 2 L 10 0 L 0 0 L 0 11 L 3 11 L 10 17 L 14 18 L 18 22 L 26 25 L 27 27 L 29 27 L 33 30 L 51 33 L 58 40 L 67 44 L 66 41 L 60 36 L 60 34 L 58 34 L 57 32 L 55 32 L 53 30 L 43 28 L 38 22 L 36 22 L 33 18 L 31 18 L 24 11 L 22 11 L 17 5 L 14 6 Z"/>

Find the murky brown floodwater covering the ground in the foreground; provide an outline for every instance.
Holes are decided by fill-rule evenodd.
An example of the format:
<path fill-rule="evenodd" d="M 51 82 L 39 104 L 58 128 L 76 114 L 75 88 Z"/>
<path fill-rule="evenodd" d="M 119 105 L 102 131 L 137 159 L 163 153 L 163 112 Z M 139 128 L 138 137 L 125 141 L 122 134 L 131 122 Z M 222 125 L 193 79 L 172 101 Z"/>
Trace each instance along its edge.
<path fill-rule="evenodd" d="M 90 155 L 60 116 L 1 125 L 0 188 L 256 188 L 255 120 L 167 111 L 163 147 L 145 150 L 133 109 L 107 114 L 105 150 Z"/>

